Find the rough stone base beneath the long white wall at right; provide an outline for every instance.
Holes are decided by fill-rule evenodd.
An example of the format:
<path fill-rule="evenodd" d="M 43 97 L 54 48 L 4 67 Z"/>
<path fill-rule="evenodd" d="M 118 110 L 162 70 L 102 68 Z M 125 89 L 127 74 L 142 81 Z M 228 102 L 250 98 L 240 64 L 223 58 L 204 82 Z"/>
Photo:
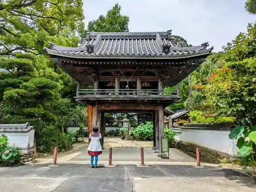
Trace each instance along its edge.
<path fill-rule="evenodd" d="M 235 160 L 233 155 L 223 153 L 217 150 L 212 150 L 194 143 L 178 141 L 176 148 L 196 159 L 196 148 L 200 150 L 201 162 L 219 164 L 220 160 L 227 159 L 227 163 L 232 163 Z"/>

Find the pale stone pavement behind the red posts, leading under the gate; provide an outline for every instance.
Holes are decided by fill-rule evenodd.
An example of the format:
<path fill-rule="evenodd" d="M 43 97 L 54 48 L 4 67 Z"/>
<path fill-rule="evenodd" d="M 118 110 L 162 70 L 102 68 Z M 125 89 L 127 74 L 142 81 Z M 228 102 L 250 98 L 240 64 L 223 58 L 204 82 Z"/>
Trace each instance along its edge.
<path fill-rule="evenodd" d="M 105 149 L 99 156 L 99 163 L 109 163 L 109 147 L 113 147 L 112 163 L 113 164 L 140 164 L 140 147 L 144 147 L 144 162 L 147 165 L 154 164 L 196 164 L 196 160 L 176 148 L 169 148 L 169 159 L 161 159 L 157 153 L 152 150 L 152 141 L 126 141 L 118 137 L 106 137 L 104 141 Z M 167 153 L 166 153 L 167 155 Z M 39 163 L 50 163 L 52 159 L 39 159 Z M 90 164 L 90 156 L 87 149 L 78 150 L 66 156 L 58 157 L 57 163 L 60 164 Z"/>

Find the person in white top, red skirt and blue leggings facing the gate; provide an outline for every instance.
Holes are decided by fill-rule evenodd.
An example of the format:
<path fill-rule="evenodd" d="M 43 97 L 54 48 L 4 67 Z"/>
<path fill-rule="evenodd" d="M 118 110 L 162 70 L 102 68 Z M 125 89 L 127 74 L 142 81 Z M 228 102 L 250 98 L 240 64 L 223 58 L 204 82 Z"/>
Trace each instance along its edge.
<path fill-rule="evenodd" d="M 93 133 L 89 135 L 89 146 L 88 146 L 88 154 L 91 156 L 91 165 L 92 168 L 97 167 L 98 163 L 98 156 L 102 154 L 102 148 L 101 148 L 101 134 L 98 133 L 99 128 L 97 126 L 93 127 Z M 95 156 L 95 166 L 93 165 Z"/>

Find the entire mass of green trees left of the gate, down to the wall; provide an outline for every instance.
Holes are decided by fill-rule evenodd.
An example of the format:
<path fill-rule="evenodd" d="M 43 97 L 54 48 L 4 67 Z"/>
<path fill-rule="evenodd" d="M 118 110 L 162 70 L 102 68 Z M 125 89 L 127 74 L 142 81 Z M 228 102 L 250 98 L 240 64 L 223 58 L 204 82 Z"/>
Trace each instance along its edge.
<path fill-rule="evenodd" d="M 81 0 L 0 4 L 1 122 L 34 125 L 37 146 L 47 145 L 47 150 L 53 143 L 64 146 L 68 138 L 60 134 L 61 127 L 70 123 L 70 117 L 78 120 L 74 114 L 81 113 L 77 110 L 81 106 L 72 102 L 75 81 L 59 69 L 53 71 L 44 47 L 51 41 L 76 47 L 83 18 Z M 65 111 L 61 118 L 59 109 Z"/>

